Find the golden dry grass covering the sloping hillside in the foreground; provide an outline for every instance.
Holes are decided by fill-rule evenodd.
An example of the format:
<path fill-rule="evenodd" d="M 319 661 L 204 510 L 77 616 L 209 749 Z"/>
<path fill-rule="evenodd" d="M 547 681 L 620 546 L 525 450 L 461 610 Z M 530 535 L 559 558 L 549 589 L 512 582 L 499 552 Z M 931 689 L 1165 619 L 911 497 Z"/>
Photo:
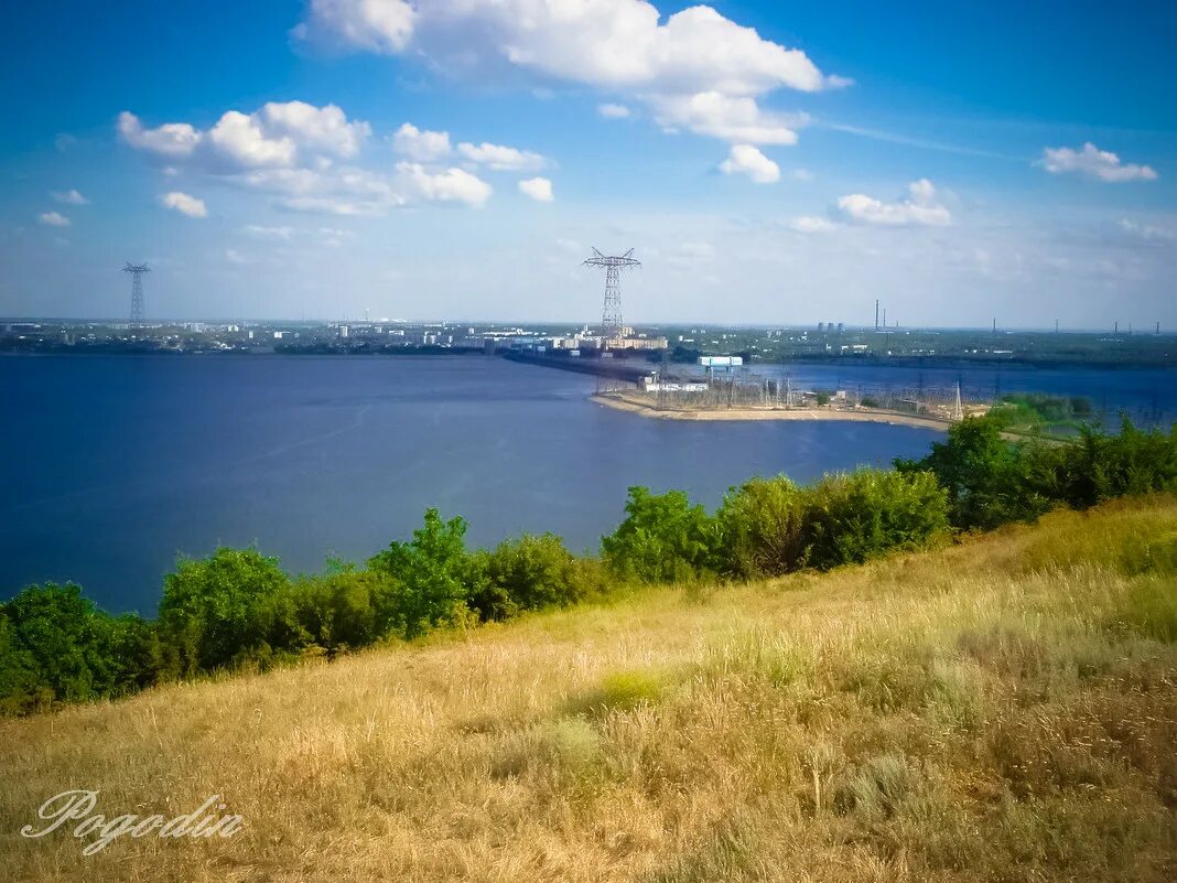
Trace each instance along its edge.
<path fill-rule="evenodd" d="M 16 881 L 1177 878 L 1177 502 L 0 722 Z M 16 836 L 68 788 L 231 839 Z"/>

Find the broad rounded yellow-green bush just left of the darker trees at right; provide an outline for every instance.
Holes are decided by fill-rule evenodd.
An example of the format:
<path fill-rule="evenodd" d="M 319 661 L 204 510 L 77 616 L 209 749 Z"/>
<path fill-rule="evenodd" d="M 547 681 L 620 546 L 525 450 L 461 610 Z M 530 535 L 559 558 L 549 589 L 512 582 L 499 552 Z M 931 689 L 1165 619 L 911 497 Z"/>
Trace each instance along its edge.
<path fill-rule="evenodd" d="M 945 493 L 929 472 L 827 476 L 805 494 L 803 560 L 819 569 L 859 564 L 918 549 L 947 526 Z"/>

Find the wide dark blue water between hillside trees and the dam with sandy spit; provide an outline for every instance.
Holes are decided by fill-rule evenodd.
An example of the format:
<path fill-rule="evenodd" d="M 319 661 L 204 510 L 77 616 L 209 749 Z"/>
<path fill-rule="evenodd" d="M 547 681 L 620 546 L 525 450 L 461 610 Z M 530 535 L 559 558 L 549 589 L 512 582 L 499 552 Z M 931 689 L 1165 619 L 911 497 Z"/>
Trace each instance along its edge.
<path fill-rule="evenodd" d="M 885 370 L 884 370 L 885 371 Z M 178 555 L 255 544 L 292 572 L 364 560 L 427 506 L 474 545 L 554 531 L 596 549 L 626 487 L 805 482 L 922 456 L 930 430 L 651 420 L 593 379 L 496 358 L 0 358 L 0 597 L 74 580 L 153 613 Z"/>

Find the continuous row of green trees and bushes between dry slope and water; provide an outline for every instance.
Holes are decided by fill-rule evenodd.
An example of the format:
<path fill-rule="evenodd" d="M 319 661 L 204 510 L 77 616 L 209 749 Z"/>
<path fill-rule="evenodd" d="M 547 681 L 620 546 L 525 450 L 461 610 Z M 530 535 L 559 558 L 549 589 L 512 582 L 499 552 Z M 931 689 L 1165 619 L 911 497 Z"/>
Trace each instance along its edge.
<path fill-rule="evenodd" d="M 182 558 L 159 616 L 111 616 L 73 584 L 28 586 L 0 604 L 0 713 L 127 696 L 226 670 L 332 658 L 439 629 L 503 622 L 644 585 L 750 580 L 829 570 L 955 533 L 1032 522 L 1056 506 L 1177 491 L 1177 426 L 1084 429 L 1063 444 L 1010 444 L 997 418 L 967 418 L 920 460 L 800 486 L 754 478 L 714 512 L 681 491 L 631 487 L 596 557 L 552 535 L 466 547 L 466 522 L 435 509 L 407 542 L 363 566 L 330 560 L 287 576 L 255 549 Z"/>

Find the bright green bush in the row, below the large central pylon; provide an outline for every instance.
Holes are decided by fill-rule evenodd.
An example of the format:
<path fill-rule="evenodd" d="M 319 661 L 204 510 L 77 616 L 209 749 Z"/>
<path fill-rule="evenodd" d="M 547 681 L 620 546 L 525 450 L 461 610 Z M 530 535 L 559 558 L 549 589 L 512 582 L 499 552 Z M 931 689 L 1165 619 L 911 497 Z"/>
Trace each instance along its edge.
<path fill-rule="evenodd" d="M 630 487 L 625 520 L 601 537 L 610 570 L 637 583 L 691 582 L 711 571 L 716 523 L 683 491 Z"/>

